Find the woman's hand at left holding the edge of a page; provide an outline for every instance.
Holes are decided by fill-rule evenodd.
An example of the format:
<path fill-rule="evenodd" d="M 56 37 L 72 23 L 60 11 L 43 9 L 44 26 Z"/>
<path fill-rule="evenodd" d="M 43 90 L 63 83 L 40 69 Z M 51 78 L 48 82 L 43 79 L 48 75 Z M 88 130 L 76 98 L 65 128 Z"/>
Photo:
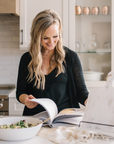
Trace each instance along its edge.
<path fill-rule="evenodd" d="M 38 105 L 38 103 L 30 101 L 30 99 L 36 99 L 36 98 L 33 95 L 29 95 L 28 97 L 26 97 L 24 104 L 29 109 L 35 108 Z"/>

